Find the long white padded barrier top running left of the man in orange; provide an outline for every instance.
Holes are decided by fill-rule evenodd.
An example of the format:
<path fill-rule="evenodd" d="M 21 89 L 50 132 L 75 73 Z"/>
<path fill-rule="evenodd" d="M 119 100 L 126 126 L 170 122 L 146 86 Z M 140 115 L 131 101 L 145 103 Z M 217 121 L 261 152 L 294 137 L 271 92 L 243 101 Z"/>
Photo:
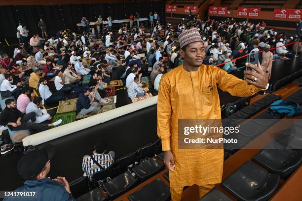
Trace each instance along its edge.
<path fill-rule="evenodd" d="M 40 132 L 38 134 L 32 134 L 25 138 L 23 138 L 23 146 L 28 145 L 38 145 L 45 143 L 47 141 L 68 135 L 73 134 L 77 131 L 95 126 L 97 124 L 101 124 L 117 117 L 123 116 L 125 114 L 129 114 L 131 112 L 135 112 L 137 110 L 143 109 L 145 107 L 149 107 L 151 105 L 157 104 L 157 96 L 151 97 L 149 99 L 140 100 L 138 102 L 134 102 L 122 107 L 118 107 L 113 110 L 109 110 L 107 112 L 103 112 L 101 114 L 97 114 L 91 117 L 87 117 L 85 119 L 81 119 L 66 125 L 62 125 L 53 129 L 49 129 L 47 131 Z"/>

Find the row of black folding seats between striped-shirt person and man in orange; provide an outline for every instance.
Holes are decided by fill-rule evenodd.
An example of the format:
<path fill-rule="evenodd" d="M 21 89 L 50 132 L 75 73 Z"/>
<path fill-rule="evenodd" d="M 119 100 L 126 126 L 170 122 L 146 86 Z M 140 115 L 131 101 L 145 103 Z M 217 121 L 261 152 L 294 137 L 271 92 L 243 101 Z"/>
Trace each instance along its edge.
<path fill-rule="evenodd" d="M 108 195 L 107 200 L 117 198 L 164 169 L 164 164 L 154 157 L 159 152 L 160 139 L 117 159 L 112 166 L 95 173 L 92 181 L 88 181 L 87 177 L 80 177 L 70 184 L 73 196 L 80 197 L 89 189 L 99 186 Z"/>

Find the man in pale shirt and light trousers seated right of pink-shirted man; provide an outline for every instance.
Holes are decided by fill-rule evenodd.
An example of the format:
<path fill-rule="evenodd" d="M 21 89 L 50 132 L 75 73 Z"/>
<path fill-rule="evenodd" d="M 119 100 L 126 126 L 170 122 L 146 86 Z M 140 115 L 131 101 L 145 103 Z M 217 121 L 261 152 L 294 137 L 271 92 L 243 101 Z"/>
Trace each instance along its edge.
<path fill-rule="evenodd" d="M 50 114 L 47 113 L 46 109 L 41 109 L 42 105 L 42 98 L 41 97 L 35 97 L 32 102 L 30 102 L 25 110 L 25 113 L 31 113 L 35 112 L 36 113 L 36 121 L 33 123 L 42 123 L 46 120 L 51 120 Z"/>

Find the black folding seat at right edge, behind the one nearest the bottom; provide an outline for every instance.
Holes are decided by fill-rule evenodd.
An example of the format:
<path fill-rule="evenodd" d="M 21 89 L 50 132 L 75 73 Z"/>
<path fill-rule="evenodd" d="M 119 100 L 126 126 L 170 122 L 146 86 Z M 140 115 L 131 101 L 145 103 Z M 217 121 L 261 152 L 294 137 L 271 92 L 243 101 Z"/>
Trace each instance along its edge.
<path fill-rule="evenodd" d="M 252 161 L 271 173 L 282 178 L 289 176 L 302 162 L 302 150 L 286 149 L 285 146 L 272 142 L 257 153 Z"/>

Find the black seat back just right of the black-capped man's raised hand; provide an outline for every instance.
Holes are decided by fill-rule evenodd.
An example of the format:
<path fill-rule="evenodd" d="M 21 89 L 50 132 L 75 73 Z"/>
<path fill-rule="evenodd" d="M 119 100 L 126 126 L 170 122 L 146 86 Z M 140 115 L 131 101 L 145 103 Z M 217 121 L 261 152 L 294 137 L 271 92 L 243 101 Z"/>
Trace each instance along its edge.
<path fill-rule="evenodd" d="M 89 191 L 88 181 L 87 176 L 81 176 L 70 182 L 70 190 L 74 198 L 78 198 Z"/>

